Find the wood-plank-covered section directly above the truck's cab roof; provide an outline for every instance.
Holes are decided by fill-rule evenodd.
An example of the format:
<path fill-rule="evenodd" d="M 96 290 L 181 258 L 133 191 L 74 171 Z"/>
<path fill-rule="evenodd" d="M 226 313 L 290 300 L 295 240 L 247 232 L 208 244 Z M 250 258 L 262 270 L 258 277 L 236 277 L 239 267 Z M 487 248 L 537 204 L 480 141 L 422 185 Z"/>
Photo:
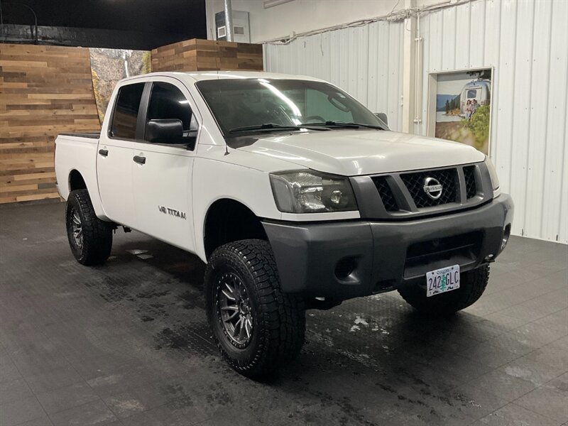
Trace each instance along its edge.
<path fill-rule="evenodd" d="M 152 50 L 152 71 L 263 70 L 262 45 L 185 40 Z"/>

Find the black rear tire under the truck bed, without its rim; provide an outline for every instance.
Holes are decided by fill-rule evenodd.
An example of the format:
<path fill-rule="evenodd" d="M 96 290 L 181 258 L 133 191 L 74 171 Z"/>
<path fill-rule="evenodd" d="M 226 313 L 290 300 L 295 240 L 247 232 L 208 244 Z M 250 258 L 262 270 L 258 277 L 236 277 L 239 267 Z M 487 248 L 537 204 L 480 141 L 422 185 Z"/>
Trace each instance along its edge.
<path fill-rule="evenodd" d="M 81 220 L 82 244 L 73 236 L 73 215 L 77 212 Z M 112 226 L 94 213 L 93 204 L 87 190 L 72 191 L 67 198 L 65 211 L 67 239 L 73 256 L 82 265 L 98 265 L 109 258 L 112 247 Z"/>

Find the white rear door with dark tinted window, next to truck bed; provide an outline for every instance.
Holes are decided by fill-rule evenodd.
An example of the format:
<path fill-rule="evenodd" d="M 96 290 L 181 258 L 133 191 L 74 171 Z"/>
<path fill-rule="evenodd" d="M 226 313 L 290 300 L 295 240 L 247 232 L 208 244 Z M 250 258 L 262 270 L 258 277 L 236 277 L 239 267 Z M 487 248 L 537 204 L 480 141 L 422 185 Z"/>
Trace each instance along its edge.
<path fill-rule="evenodd" d="M 107 129 L 103 129 L 97 153 L 97 179 L 105 214 L 114 222 L 136 228 L 132 186 L 133 143 L 137 137 L 144 82 L 119 88 Z M 138 130 L 138 133 L 140 131 Z"/>

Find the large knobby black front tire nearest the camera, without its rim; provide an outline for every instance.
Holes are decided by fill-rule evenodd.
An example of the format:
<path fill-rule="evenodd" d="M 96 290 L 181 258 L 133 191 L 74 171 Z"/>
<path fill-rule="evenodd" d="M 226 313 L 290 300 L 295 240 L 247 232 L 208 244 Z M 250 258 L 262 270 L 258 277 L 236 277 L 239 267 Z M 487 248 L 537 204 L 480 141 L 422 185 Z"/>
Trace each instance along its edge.
<path fill-rule="evenodd" d="M 250 302 L 250 342 L 239 348 L 224 331 L 219 310 L 222 277 L 241 279 Z M 278 269 L 267 241 L 246 239 L 216 249 L 204 279 L 207 319 L 226 362 L 247 377 L 262 377 L 295 359 L 305 337 L 305 308 L 299 295 L 283 293 Z M 242 327 L 242 326 L 241 326 Z"/>

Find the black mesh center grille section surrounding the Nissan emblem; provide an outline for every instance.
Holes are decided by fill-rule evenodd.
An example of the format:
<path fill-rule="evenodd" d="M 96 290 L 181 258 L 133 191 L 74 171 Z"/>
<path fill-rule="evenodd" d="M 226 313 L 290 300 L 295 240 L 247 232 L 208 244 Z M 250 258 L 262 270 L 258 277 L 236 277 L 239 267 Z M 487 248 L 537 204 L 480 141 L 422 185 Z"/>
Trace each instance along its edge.
<path fill-rule="evenodd" d="M 416 207 L 439 206 L 440 204 L 447 204 L 449 202 L 456 202 L 459 200 L 457 194 L 457 170 L 449 168 L 444 170 L 430 170 L 417 173 L 406 173 L 400 175 L 406 185 L 408 192 L 413 197 Z M 427 178 L 434 178 L 440 185 L 442 185 L 442 195 L 437 200 L 432 200 L 425 190 L 425 180 Z"/>

